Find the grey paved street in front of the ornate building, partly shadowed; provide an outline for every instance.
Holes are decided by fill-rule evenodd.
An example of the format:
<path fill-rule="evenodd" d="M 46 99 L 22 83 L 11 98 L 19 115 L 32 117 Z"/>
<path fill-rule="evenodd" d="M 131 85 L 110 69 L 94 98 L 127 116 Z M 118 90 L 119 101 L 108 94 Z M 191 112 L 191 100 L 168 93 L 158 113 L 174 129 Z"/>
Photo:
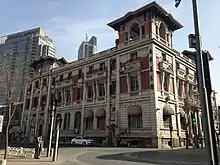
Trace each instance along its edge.
<path fill-rule="evenodd" d="M 46 165 L 51 159 L 8 161 L 8 165 Z M 60 148 L 57 165 L 207 165 L 204 149 Z"/>

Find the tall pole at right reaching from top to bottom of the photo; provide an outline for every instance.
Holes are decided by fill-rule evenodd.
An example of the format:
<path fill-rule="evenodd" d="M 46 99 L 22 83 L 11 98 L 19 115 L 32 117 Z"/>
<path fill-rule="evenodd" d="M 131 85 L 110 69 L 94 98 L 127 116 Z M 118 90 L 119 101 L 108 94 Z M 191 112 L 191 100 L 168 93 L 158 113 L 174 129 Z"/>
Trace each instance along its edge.
<path fill-rule="evenodd" d="M 196 38 L 196 63 L 197 63 L 197 73 L 198 73 L 198 84 L 200 92 L 200 102 L 202 108 L 203 117 L 203 128 L 205 133 L 205 143 L 208 152 L 208 160 L 210 165 L 218 165 L 215 158 L 215 151 L 213 146 L 213 138 L 210 123 L 210 114 L 208 106 L 207 91 L 205 86 L 204 68 L 203 68 L 203 57 L 201 49 L 200 31 L 199 31 L 199 18 L 198 18 L 198 5 L 197 0 L 192 0 L 193 6 L 193 17 L 194 17 L 194 28 L 195 28 L 195 38 Z"/>

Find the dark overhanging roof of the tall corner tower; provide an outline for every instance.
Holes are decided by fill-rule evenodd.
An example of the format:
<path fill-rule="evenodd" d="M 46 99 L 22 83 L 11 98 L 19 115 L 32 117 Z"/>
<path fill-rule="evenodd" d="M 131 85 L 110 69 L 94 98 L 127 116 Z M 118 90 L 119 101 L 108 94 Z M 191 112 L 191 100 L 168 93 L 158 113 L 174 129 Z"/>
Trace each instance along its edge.
<path fill-rule="evenodd" d="M 173 16 L 172 14 L 168 13 L 161 5 L 159 5 L 157 2 L 153 1 L 135 11 L 130 11 L 127 14 L 125 14 L 123 17 L 118 18 L 110 23 L 108 23 L 108 26 L 113 28 L 114 30 L 119 30 L 119 26 L 129 21 L 134 16 L 140 16 L 148 12 L 157 13 L 158 16 L 160 16 L 168 25 L 170 25 L 170 28 L 172 31 L 178 30 L 183 27 L 182 24 L 180 24 Z"/>

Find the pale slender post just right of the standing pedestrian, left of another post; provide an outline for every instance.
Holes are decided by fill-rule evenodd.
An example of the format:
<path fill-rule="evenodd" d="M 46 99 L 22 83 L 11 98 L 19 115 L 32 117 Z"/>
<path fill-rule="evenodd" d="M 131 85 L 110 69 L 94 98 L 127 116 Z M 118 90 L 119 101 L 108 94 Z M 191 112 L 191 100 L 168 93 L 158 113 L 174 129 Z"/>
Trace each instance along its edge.
<path fill-rule="evenodd" d="M 50 123 L 50 137 L 49 137 L 49 144 L 47 149 L 47 157 L 51 156 L 51 145 L 52 145 L 52 138 L 53 138 L 53 125 L 54 125 L 54 116 L 56 113 L 57 108 L 57 98 L 55 98 L 51 102 L 51 123 Z"/>

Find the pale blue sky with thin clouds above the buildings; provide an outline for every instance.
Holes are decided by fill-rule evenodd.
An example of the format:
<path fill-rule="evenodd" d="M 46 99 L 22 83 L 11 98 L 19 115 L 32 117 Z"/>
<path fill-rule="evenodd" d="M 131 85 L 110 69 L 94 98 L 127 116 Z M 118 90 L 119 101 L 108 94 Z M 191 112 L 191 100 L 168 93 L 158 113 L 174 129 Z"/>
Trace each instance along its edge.
<path fill-rule="evenodd" d="M 188 34 L 194 33 L 191 0 L 183 0 L 179 8 L 175 0 L 157 0 L 183 24 L 174 32 L 173 44 L 178 51 L 188 49 Z M 107 23 L 135 10 L 150 0 L 2 0 L 0 5 L 0 36 L 35 27 L 45 29 L 55 43 L 57 55 L 72 61 L 77 58 L 80 43 L 98 37 L 98 51 L 114 46 L 117 32 Z M 202 47 L 214 57 L 211 62 L 213 89 L 220 103 L 220 1 L 199 0 Z M 217 19 L 216 19 L 217 18 Z M 218 38 L 219 37 L 219 38 Z"/>

